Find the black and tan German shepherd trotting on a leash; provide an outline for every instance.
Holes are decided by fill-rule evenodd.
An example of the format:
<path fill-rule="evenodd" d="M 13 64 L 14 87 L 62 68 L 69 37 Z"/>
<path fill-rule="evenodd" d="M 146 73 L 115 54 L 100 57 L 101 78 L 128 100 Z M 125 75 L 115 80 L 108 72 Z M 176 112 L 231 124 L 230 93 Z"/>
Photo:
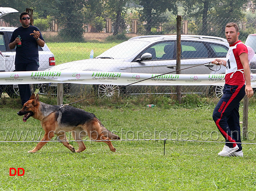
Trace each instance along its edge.
<path fill-rule="evenodd" d="M 110 139 L 120 140 L 119 136 L 107 130 L 94 114 L 72 106 L 60 108 L 60 106 L 45 104 L 40 102 L 39 95 L 34 93 L 17 114 L 20 116 L 24 115 L 24 122 L 31 116 L 40 120 L 45 132 L 42 138 L 44 142 L 39 142 L 33 150 L 28 151 L 30 153 L 37 152 L 54 137 L 54 134 L 72 152 L 82 152 L 86 149 L 84 142 L 77 141 L 79 148 L 75 150 L 67 142 L 66 132 L 72 132 L 74 140 L 82 140 L 82 137 L 87 135 L 90 140 L 103 141 L 108 144 L 113 152 L 116 152 L 116 149 L 113 147 Z"/>

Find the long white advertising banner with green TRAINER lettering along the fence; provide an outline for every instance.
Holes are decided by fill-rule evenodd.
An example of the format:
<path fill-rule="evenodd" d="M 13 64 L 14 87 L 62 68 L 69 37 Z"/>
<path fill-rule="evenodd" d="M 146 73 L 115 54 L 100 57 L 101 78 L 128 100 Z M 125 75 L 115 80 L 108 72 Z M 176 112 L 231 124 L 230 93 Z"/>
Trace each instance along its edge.
<path fill-rule="evenodd" d="M 225 74 L 146 74 L 102 71 L 26 71 L 1 72 L 0 85 L 76 83 L 108 85 L 224 85 Z M 256 87 L 256 74 L 251 74 Z"/>

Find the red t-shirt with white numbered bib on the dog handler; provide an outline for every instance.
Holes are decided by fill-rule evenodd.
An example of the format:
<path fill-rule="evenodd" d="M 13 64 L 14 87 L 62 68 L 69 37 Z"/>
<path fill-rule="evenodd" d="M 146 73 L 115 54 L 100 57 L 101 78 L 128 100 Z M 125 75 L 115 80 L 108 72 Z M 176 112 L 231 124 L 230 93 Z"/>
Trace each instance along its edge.
<path fill-rule="evenodd" d="M 238 41 L 228 49 L 226 56 L 226 77 L 225 83 L 229 85 L 244 85 L 244 67 L 240 61 L 239 55 L 247 53 L 248 49 L 242 41 Z"/>

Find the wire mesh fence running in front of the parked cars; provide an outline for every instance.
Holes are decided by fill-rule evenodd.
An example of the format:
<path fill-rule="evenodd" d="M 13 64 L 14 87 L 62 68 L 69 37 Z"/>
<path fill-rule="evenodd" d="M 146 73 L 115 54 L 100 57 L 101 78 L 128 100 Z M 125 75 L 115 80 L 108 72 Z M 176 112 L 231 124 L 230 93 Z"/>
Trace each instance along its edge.
<path fill-rule="evenodd" d="M 183 20 L 181 39 L 181 69 L 209 63 L 214 58 L 225 58 L 228 43 L 225 39 L 225 26 L 235 22 L 240 28 L 239 39 L 243 42 L 249 34 L 255 33 L 256 20 L 242 22 L 230 18 L 208 18 L 202 20 Z M 3 22 L 2 22 L 3 23 Z M 166 73 L 176 69 L 176 20 L 174 18 L 135 18 L 116 24 L 109 18 L 95 23 L 59 22 L 54 18 L 34 20 L 49 49 L 40 49 L 40 70 L 49 69 L 53 63 L 55 70 L 69 71 L 116 71 L 132 73 Z M 0 30 L 0 50 L 2 58 L 0 71 L 13 71 L 15 50 L 8 48 L 12 30 Z M 138 36 L 143 35 L 143 38 Z M 158 35 L 145 38 L 145 35 Z M 208 36 L 208 37 L 206 37 Z M 133 38 L 133 39 L 131 39 Z M 130 40 L 128 40 L 130 39 Z M 246 41 L 254 51 L 254 35 Z M 93 50 L 94 59 L 90 58 Z M 151 57 L 145 56 L 150 53 Z M 55 61 L 52 61 L 54 55 Z M 65 64 L 64 64 L 65 63 Z M 64 64 L 64 65 L 63 65 Z M 251 62 L 252 73 L 256 61 Z M 184 70 L 183 74 L 219 74 L 225 68 L 205 66 Z M 17 85 L 1 85 L 0 93 L 18 95 Z M 64 95 L 89 96 L 104 93 L 116 88 L 114 85 L 64 84 Z M 222 87 L 184 86 L 182 93 L 198 93 L 204 96 L 221 95 Z M 33 86 L 33 91 L 44 95 L 56 95 L 54 83 Z M 175 94 L 171 86 L 138 86 L 120 89 L 114 94 Z M 112 94 L 112 95 L 114 95 Z M 106 97 L 111 95 L 106 94 Z M 104 96 L 103 96 L 104 97 Z"/>

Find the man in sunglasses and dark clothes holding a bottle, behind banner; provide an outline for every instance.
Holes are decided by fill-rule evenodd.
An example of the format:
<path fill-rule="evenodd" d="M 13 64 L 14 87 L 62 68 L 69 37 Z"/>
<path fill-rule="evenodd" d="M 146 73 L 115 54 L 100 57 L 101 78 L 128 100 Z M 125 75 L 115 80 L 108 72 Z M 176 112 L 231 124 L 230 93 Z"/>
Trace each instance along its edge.
<path fill-rule="evenodd" d="M 20 14 L 20 23 L 22 26 L 14 30 L 9 42 L 10 49 L 16 47 L 15 71 L 37 71 L 39 67 L 38 46 L 44 47 L 44 39 L 40 30 L 30 25 L 30 17 L 27 12 Z M 21 46 L 16 46 L 20 41 Z M 23 106 L 31 96 L 30 85 L 19 84 L 18 86 Z"/>

